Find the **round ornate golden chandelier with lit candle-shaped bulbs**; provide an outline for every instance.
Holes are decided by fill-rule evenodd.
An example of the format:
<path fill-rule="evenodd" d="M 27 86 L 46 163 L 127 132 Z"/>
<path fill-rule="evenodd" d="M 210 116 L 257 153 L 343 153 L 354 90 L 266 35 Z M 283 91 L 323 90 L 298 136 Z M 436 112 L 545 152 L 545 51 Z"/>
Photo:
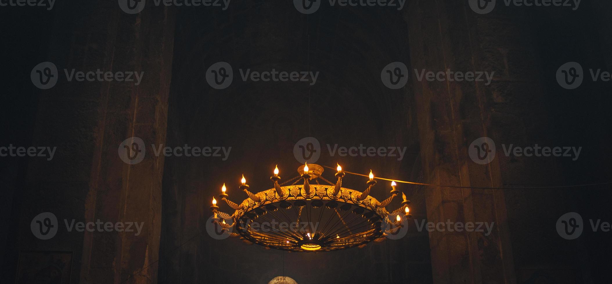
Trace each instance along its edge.
<path fill-rule="evenodd" d="M 382 202 L 370 196 L 376 184 L 370 175 L 363 191 L 343 188 L 345 172 L 337 167 L 336 183 L 321 177 L 323 167 L 304 164 L 297 168 L 299 175 L 279 184 L 278 166 L 270 177 L 274 188 L 253 193 L 249 191 L 244 175 L 239 189 L 248 198 L 241 203 L 229 200 L 225 183 L 219 197 L 234 209 L 233 214 L 220 211 L 217 200 L 212 198 L 213 222 L 223 233 L 239 237 L 248 244 L 258 244 L 267 249 L 294 252 L 331 251 L 349 247 L 365 247 L 368 242 L 384 241 L 387 235 L 403 227 L 403 217 L 409 213 L 409 200 L 402 194 L 400 208 L 389 213 L 385 208 L 400 194 L 395 181 L 391 182 L 390 197 Z M 326 184 L 320 184 L 319 180 Z M 316 183 L 316 184 L 315 184 Z M 226 222 L 231 220 L 231 224 Z"/>

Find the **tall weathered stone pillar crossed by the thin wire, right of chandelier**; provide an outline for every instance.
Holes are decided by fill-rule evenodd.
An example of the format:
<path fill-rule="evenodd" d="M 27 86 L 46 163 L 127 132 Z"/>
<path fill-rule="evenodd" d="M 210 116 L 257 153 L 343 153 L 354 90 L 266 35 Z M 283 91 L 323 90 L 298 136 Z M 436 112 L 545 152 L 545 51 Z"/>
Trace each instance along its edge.
<path fill-rule="evenodd" d="M 477 164 L 468 154 L 469 145 L 479 137 L 504 142 L 520 137 L 517 144 L 539 139 L 537 131 L 547 123 L 546 112 L 537 109 L 542 83 L 520 19 L 501 12 L 479 15 L 468 1 L 419 0 L 411 2 L 406 21 L 425 181 L 494 188 L 553 180 L 556 170 L 550 164 L 510 162 L 499 145 L 489 164 Z M 415 69 L 495 73 L 492 84 L 485 85 L 486 81 L 418 81 Z M 549 175 L 535 177 L 534 169 L 542 168 Z M 489 235 L 486 230 L 431 232 L 434 283 L 516 283 L 506 192 L 430 187 L 426 202 L 430 222 L 494 224 Z"/>

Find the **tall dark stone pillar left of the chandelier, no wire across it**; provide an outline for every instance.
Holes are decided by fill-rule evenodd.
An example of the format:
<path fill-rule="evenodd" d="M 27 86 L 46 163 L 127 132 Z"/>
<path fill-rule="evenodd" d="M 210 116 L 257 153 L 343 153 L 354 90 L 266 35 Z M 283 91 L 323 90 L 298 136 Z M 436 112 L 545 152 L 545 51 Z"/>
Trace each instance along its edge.
<path fill-rule="evenodd" d="M 58 67 L 59 80 L 40 90 L 32 144 L 58 148 L 51 161 L 30 163 L 20 250 L 71 252 L 71 283 L 157 283 L 164 159 L 154 156 L 150 145 L 166 139 L 173 10 L 150 5 L 129 15 L 116 1 L 72 1 L 58 3 L 54 12 L 48 61 Z M 138 85 L 79 82 L 68 81 L 64 69 L 142 76 Z M 138 164 L 118 155 L 129 137 L 147 145 Z M 34 238 L 29 222 L 47 211 L 56 215 L 58 233 Z M 69 225 L 74 219 L 142 227 L 138 235 L 134 225 L 132 232 L 67 231 L 64 219 Z"/>

